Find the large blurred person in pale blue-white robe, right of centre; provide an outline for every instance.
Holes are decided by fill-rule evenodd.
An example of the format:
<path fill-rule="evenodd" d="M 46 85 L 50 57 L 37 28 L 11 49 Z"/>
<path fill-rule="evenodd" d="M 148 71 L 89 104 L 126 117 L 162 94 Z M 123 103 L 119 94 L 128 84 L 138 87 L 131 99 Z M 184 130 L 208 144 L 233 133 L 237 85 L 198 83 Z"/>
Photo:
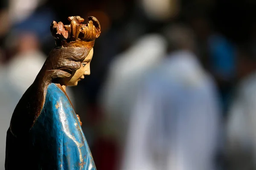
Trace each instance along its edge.
<path fill-rule="evenodd" d="M 129 109 L 121 170 L 217 169 L 221 113 L 193 35 L 182 24 L 166 28 L 169 54 L 140 78 Z"/>

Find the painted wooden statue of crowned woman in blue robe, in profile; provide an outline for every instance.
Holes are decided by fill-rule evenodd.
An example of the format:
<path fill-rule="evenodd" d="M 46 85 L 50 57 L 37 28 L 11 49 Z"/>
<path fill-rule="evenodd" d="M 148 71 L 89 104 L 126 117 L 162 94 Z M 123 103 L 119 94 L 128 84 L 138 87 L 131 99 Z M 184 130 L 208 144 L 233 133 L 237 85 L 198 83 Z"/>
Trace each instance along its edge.
<path fill-rule="evenodd" d="M 99 21 L 52 22 L 56 47 L 18 102 L 7 131 L 6 170 L 96 170 L 79 116 L 65 92 L 90 74 Z M 25 71 L 25 70 L 24 70 Z M 22 74 L 22 73 L 21 73 Z"/>

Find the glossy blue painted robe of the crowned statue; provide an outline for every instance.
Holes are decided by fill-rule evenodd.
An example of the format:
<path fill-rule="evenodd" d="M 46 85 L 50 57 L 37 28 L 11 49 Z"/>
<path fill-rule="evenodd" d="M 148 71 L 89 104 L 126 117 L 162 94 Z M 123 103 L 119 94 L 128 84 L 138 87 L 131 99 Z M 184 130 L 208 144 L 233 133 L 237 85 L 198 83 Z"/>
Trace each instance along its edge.
<path fill-rule="evenodd" d="M 25 144 L 26 150 L 22 151 L 25 153 L 21 154 L 28 155 L 28 158 L 22 161 L 23 166 L 20 168 L 96 170 L 79 119 L 67 96 L 53 83 L 47 88 L 44 107 L 30 130 L 26 142 L 18 142 L 10 132 L 7 138 L 9 139 L 7 145 L 16 147 L 19 145 L 16 150 L 22 147 L 20 143 Z M 12 153 L 12 155 L 15 154 L 17 153 Z M 23 158 L 16 156 L 15 159 Z M 7 162 L 11 167 L 10 161 Z"/>

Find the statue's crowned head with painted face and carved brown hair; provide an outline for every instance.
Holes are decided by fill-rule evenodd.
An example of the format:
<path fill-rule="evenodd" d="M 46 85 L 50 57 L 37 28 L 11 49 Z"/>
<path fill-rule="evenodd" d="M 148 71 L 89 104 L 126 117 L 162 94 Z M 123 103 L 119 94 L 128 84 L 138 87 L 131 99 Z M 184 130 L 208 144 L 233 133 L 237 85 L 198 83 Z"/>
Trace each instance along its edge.
<path fill-rule="evenodd" d="M 66 71 L 71 76 L 60 78 L 58 82 L 66 86 L 74 86 L 90 75 L 90 62 L 93 57 L 93 45 L 99 37 L 101 28 L 95 17 L 88 17 L 88 23 L 82 24 L 84 19 L 75 16 L 68 17 L 70 25 L 53 21 L 51 24 L 52 36 L 55 38 L 56 47 L 50 56 L 58 58 L 58 64 L 52 65 L 53 69 Z"/>

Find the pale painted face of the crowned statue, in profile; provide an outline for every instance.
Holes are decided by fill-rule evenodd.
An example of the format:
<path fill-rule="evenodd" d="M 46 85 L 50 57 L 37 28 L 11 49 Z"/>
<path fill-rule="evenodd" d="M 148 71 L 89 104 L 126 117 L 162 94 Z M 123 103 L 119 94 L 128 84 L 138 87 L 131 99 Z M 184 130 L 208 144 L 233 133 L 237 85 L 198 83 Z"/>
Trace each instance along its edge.
<path fill-rule="evenodd" d="M 72 75 L 67 78 L 63 78 L 62 82 L 66 86 L 76 86 L 79 81 L 84 79 L 84 76 L 90 75 L 90 62 L 93 57 L 93 48 L 90 50 L 87 57 L 85 57 L 84 61 L 81 63 L 81 67 L 72 72 Z"/>

